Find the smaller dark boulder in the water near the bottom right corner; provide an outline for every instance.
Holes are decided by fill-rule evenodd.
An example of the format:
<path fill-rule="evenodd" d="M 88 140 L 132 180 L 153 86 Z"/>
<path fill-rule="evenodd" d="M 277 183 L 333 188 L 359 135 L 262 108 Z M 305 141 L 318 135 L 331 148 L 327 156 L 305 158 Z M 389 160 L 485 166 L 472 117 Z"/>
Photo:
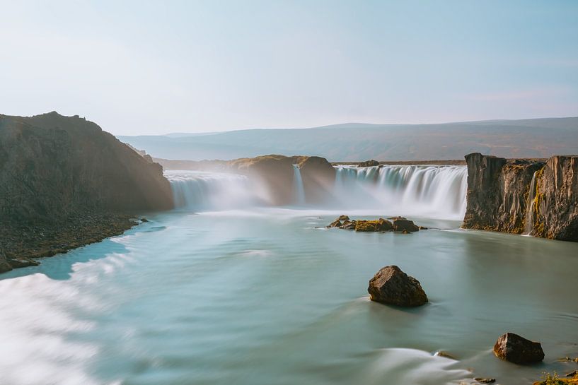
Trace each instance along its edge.
<path fill-rule="evenodd" d="M 531 364 L 544 359 L 542 345 L 514 333 L 500 336 L 494 345 L 494 354 L 515 364 Z"/>

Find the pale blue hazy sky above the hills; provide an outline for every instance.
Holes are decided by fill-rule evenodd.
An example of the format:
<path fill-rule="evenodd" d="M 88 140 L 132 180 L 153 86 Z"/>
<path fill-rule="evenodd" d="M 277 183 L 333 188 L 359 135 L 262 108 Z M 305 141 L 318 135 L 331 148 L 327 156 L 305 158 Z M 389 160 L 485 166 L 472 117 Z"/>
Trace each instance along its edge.
<path fill-rule="evenodd" d="M 0 113 L 116 135 L 578 116 L 578 1 L 5 1 Z"/>

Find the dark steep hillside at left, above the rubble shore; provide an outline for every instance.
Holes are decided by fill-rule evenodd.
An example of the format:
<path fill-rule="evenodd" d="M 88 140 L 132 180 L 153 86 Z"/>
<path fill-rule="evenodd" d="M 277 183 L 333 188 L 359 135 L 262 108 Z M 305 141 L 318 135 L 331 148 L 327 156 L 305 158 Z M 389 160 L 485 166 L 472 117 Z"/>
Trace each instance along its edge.
<path fill-rule="evenodd" d="M 78 211 L 173 207 L 162 167 L 92 122 L 56 112 L 0 115 L 0 216 L 19 223 Z"/>

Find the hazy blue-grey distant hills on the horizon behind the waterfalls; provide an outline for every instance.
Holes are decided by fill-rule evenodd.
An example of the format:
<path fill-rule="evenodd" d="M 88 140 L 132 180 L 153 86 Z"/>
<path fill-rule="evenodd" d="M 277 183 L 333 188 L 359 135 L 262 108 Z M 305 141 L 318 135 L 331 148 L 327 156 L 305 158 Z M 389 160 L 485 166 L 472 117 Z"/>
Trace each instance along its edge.
<path fill-rule="evenodd" d="M 318 155 L 331 162 L 452 160 L 479 152 L 504 158 L 578 153 L 578 117 L 444 124 L 347 123 L 311 129 L 118 136 L 156 158 L 231 160 L 266 154 Z"/>

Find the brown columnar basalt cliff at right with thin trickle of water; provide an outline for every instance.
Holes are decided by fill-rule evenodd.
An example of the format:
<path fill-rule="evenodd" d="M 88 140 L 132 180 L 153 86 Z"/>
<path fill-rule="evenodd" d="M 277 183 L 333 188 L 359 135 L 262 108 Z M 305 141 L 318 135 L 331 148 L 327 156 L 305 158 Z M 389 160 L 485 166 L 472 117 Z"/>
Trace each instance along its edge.
<path fill-rule="evenodd" d="M 473 153 L 463 227 L 578 242 L 578 156 L 507 160 Z"/>

